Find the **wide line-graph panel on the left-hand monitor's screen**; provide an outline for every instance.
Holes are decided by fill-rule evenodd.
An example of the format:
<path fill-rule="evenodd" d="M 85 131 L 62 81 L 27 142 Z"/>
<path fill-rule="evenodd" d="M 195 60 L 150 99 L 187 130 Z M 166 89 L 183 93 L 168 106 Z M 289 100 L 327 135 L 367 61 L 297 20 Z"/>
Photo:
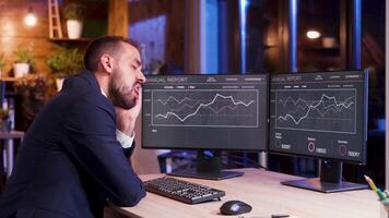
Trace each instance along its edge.
<path fill-rule="evenodd" d="M 154 125 L 258 126 L 258 90 L 153 92 Z"/>

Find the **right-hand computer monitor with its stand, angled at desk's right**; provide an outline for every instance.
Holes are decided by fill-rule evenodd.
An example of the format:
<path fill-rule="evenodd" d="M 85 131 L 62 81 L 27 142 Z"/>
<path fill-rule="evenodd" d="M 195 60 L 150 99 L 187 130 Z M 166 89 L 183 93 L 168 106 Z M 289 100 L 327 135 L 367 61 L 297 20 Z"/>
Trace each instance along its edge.
<path fill-rule="evenodd" d="M 364 189 L 342 181 L 342 162 L 365 165 L 367 72 L 274 74 L 269 152 L 320 158 L 320 178 L 282 182 L 319 192 Z"/>

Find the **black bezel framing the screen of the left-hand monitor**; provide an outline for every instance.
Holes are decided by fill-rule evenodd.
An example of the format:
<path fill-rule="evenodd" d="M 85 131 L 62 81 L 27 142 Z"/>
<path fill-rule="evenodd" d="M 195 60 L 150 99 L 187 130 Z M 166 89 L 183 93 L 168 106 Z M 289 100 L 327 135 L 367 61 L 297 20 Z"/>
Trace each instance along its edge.
<path fill-rule="evenodd" d="M 267 152 L 268 150 L 268 147 L 269 147 L 269 96 L 270 96 L 270 76 L 269 76 L 269 73 L 248 73 L 248 74 L 232 74 L 232 73 L 223 73 L 223 74 L 180 74 L 180 75 L 145 75 L 146 78 L 148 77 L 166 77 L 166 76 L 174 76 L 174 77 L 181 77 L 181 76 L 203 76 L 203 77 L 207 77 L 207 76 L 228 76 L 228 75 L 236 75 L 236 76 L 252 76 L 252 75 L 261 75 L 261 76 L 264 76 L 264 83 L 266 83 L 266 90 L 267 90 L 267 94 L 264 95 L 266 96 L 266 102 L 267 102 L 267 107 L 266 107 L 266 119 L 264 119 L 264 131 L 266 131 L 266 134 L 264 134 L 264 145 L 263 146 L 260 146 L 258 149 L 250 149 L 250 148 L 222 148 L 222 147 L 217 147 L 217 148 L 210 148 L 210 147 L 207 147 L 207 146 L 203 146 L 203 147 L 192 147 L 192 146 L 180 146 L 180 147 L 177 147 L 177 146 L 174 146 L 174 147 L 169 147 L 169 146 L 164 146 L 164 147 L 156 147 L 156 146 L 144 146 L 144 134 L 143 134 L 143 125 L 144 125 L 144 120 L 142 119 L 142 126 L 141 126 L 141 130 L 142 130 L 142 134 L 141 134 L 141 138 L 142 138 L 142 142 L 141 142 L 141 148 L 142 149 L 173 149 L 173 150 L 178 150 L 178 149 L 187 149 L 187 150 L 223 150 L 223 152 Z M 142 92 L 143 92 L 143 88 L 142 88 Z M 143 96 L 143 93 L 142 93 L 142 96 Z M 143 99 L 142 99 L 143 100 Z M 143 102 L 142 102 L 143 104 Z M 142 106 L 142 110 L 141 110 L 141 113 L 140 113 L 140 117 L 142 118 L 143 117 L 143 110 L 144 110 L 144 107 Z"/>

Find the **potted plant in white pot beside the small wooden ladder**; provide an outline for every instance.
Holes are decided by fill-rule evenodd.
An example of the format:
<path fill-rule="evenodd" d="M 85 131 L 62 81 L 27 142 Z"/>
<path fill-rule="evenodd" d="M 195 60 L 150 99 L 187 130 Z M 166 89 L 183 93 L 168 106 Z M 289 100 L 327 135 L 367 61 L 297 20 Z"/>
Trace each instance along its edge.
<path fill-rule="evenodd" d="M 63 8 L 63 17 L 67 20 L 69 38 L 76 39 L 81 37 L 84 12 L 84 7 L 79 3 L 69 3 Z"/>

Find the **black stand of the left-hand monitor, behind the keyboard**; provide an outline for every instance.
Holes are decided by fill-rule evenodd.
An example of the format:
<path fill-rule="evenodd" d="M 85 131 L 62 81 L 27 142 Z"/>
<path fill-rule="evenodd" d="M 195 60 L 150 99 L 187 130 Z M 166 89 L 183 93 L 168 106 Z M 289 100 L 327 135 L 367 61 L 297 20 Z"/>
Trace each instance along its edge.
<path fill-rule="evenodd" d="M 222 156 L 220 150 L 198 150 L 197 169 L 174 171 L 168 174 L 207 180 L 225 180 L 234 177 L 240 177 L 244 172 L 222 171 Z"/>

